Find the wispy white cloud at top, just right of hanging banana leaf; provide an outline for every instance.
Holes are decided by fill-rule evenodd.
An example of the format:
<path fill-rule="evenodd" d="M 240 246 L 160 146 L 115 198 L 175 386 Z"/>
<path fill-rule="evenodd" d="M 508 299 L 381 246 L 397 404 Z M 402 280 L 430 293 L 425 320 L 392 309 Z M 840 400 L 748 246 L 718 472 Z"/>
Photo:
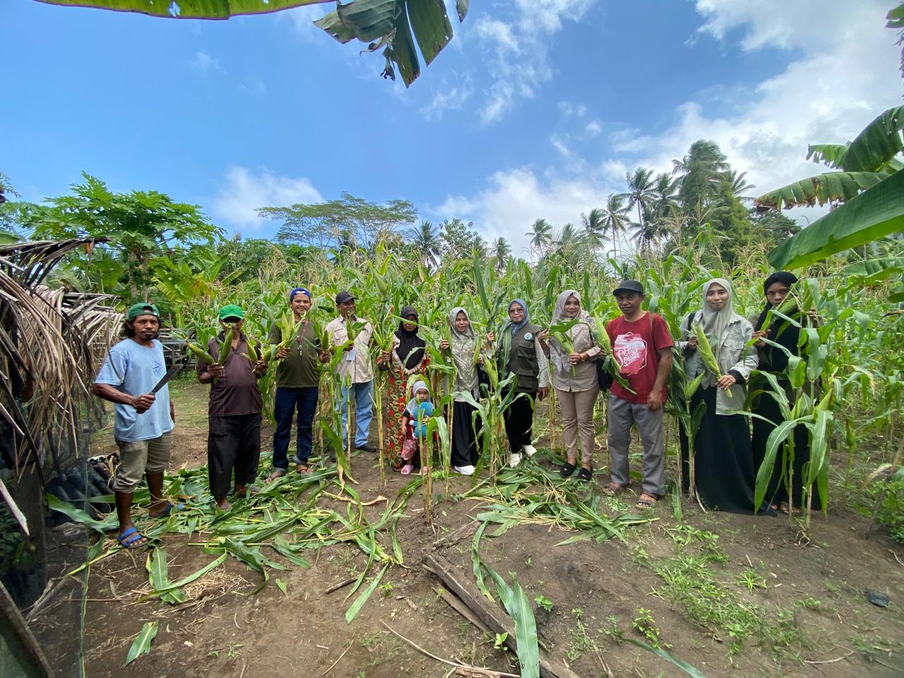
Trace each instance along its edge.
<path fill-rule="evenodd" d="M 552 36 L 561 31 L 563 21 L 579 21 L 595 2 L 516 0 L 510 20 L 486 14 L 476 20 L 476 35 L 487 52 L 485 64 L 493 78 L 479 111 L 484 124 L 497 122 L 518 99 L 532 99 L 552 79 L 547 62 Z M 579 115 L 586 112 L 581 108 Z"/>

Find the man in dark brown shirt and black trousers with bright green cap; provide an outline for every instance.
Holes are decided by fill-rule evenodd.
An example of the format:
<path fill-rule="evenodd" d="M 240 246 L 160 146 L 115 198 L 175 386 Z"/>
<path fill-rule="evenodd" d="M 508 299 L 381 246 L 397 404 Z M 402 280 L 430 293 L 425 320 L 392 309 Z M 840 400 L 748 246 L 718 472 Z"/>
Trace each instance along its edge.
<path fill-rule="evenodd" d="M 235 476 L 235 495 L 246 497 L 250 483 L 258 476 L 260 461 L 263 399 L 258 380 L 267 372 L 267 363 L 259 359 L 260 345 L 250 346 L 248 337 L 242 333 L 244 324 L 245 314 L 239 306 L 223 306 L 220 309 L 222 331 L 207 344 L 207 352 L 215 362 L 198 361 L 198 381 L 211 384 L 207 475 L 211 494 L 221 511 L 231 508 L 227 495 L 232 476 Z M 220 348 L 227 336 L 230 351 L 221 361 Z"/>

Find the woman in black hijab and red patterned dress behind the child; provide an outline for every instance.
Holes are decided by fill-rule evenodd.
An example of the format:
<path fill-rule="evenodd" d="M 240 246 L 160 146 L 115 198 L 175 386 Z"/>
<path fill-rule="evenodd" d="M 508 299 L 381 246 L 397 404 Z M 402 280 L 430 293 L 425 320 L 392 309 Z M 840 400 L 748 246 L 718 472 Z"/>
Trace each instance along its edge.
<path fill-rule="evenodd" d="M 392 339 L 389 353 L 383 353 L 378 360 L 381 370 L 389 371 L 387 386 L 386 441 L 387 457 L 396 469 L 402 467 L 401 446 L 405 431 L 402 415 L 410 399 L 409 382 L 417 381 L 414 375 L 423 376 L 427 372 L 429 355 L 424 350 L 425 342 L 418 335 L 418 311 L 414 306 L 402 306 L 399 329 Z"/>

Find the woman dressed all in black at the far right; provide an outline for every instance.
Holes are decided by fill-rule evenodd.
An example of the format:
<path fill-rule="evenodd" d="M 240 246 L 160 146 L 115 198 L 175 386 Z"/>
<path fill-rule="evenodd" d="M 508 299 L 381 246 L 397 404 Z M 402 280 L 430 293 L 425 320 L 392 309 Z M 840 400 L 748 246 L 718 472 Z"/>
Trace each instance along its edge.
<path fill-rule="evenodd" d="M 788 381 L 786 370 L 788 365 L 788 353 L 791 355 L 800 355 L 800 348 L 797 346 L 797 340 L 800 336 L 800 327 L 787 322 L 784 318 L 773 316 L 772 322 L 766 325 L 769 311 L 777 308 L 785 301 L 791 286 L 797 282 L 797 277 L 788 271 L 777 271 L 766 278 L 763 283 L 763 292 L 766 295 L 766 306 L 762 313 L 756 319 L 751 318 L 754 324 L 753 338 L 757 340 L 756 346 L 759 353 L 759 370 L 760 372 L 770 372 L 776 377 L 779 388 L 785 391 L 786 397 L 791 406 L 794 405 L 795 391 L 791 388 Z M 800 309 L 792 308 L 787 315 L 796 322 L 801 323 L 805 317 Z M 777 348 L 772 344 L 767 344 L 764 339 L 778 344 L 782 348 Z M 785 349 L 788 353 L 786 353 Z M 782 422 L 782 410 L 776 399 L 770 395 L 773 387 L 764 378 L 756 378 L 755 384 L 752 385 L 753 390 L 763 391 L 753 401 L 752 411 L 758 417 L 753 418 L 753 437 L 751 446 L 753 447 L 753 464 L 756 470 L 763 463 L 766 456 L 767 440 L 769 434 Z M 767 420 L 761 419 L 765 418 Z M 770 423 L 771 422 L 771 423 Z M 801 478 L 803 477 L 804 465 L 810 460 L 810 440 L 805 426 L 797 426 L 792 434 L 794 436 L 794 464 L 792 465 L 791 486 L 793 488 L 792 501 L 796 506 L 802 505 L 804 501 L 803 485 Z M 790 439 L 790 436 L 789 436 Z M 772 507 L 789 513 L 791 506 L 788 502 L 787 488 L 787 455 L 789 452 L 788 441 L 778 450 L 775 466 L 772 467 L 772 475 L 769 478 L 769 484 L 766 490 L 766 500 Z M 815 488 L 811 488 L 815 490 Z M 813 495 L 813 508 L 820 508 L 822 503 L 819 494 Z"/>

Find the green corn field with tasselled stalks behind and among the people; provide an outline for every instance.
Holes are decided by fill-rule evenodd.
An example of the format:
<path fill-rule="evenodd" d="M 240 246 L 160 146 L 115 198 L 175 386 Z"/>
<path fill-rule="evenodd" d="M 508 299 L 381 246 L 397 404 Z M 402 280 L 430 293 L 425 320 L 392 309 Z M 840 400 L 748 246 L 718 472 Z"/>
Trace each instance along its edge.
<path fill-rule="evenodd" d="M 475 325 L 476 333 L 498 331 L 505 317 L 505 307 L 514 297 L 523 297 L 529 306 L 531 321 L 548 326 L 555 298 L 566 288 L 578 289 L 590 315 L 607 321 L 618 315 L 611 290 L 622 278 L 636 278 L 645 285 L 645 307 L 663 315 L 674 337 L 680 334 L 683 319 L 700 306 L 700 289 L 706 280 L 724 275 L 723 271 L 704 268 L 705 245 L 662 260 L 642 257 L 628 259 L 590 259 L 577 266 L 566 260 L 543 259 L 529 264 L 522 259 L 509 258 L 504 267 L 496 267 L 476 259 L 441 262 L 428 267 L 417 260 L 400 259 L 397 253 L 377 246 L 371 256 L 359 252 L 324 252 L 318 260 L 306 261 L 304 268 L 282 257 L 274 248 L 269 265 L 259 270 L 257 278 L 217 288 L 211 295 L 197 299 L 198 303 L 182 309 L 184 331 L 198 334 L 212 332 L 217 310 L 225 304 L 238 304 L 245 309 L 245 330 L 253 339 L 267 337 L 270 325 L 287 311 L 287 294 L 292 287 L 304 285 L 314 295 L 311 314 L 315 322 L 325 325 L 335 315 L 333 297 L 338 290 L 349 289 L 358 297 L 357 315 L 374 325 L 377 355 L 388 346 L 400 318 L 402 306 L 413 305 L 420 314 L 419 333 L 428 344 L 430 354 L 430 382 L 435 401 L 446 404 L 450 399 L 445 391 L 445 377 L 453 369 L 438 345 L 447 337 L 447 314 L 454 306 L 465 306 Z M 802 277 L 793 294 L 800 308 L 813 308 L 820 318 L 818 327 L 806 327 L 801 358 L 789 363 L 788 377 L 797 391 L 793 404 L 783 401 L 781 406 L 786 423 L 770 439 L 767 461 L 760 470 L 757 483 L 758 504 L 766 491 L 769 471 L 774 464 L 782 464 L 779 453 L 784 433 L 796 425 L 805 426 L 812 440 L 812 459 L 806 467 L 804 487 L 814 486 L 825 506 L 839 498 L 839 492 L 850 490 L 850 469 L 855 462 L 868 459 L 870 464 L 890 464 L 896 450 L 890 441 L 896 439 L 902 394 L 901 310 L 899 305 L 884 300 L 883 280 L 900 270 L 899 259 L 873 259 L 853 264 L 838 263 L 813 268 Z M 750 251 L 744 265 L 730 275 L 735 288 L 735 307 L 741 315 L 758 314 L 764 298 L 762 281 L 771 271 L 764 253 Z M 781 314 L 781 309 L 774 313 Z M 794 321 L 792 321 L 794 322 Z M 333 393 L 341 385 L 334 380 L 333 368 L 339 354 L 323 366 L 320 411 L 316 421 L 322 446 L 332 447 L 339 457 L 345 475 L 350 473 L 348 450 L 342 450 L 341 431 L 334 416 Z M 275 371 L 268 371 L 261 380 L 265 413 L 272 416 L 272 397 Z M 494 372 L 494 371 L 492 371 Z M 383 391 L 382 374 L 376 372 L 376 392 Z M 499 386 L 492 373 L 493 386 Z M 772 375 L 764 378 L 772 379 Z M 805 384 L 819 383 L 817 398 L 805 392 Z M 502 386 L 505 384 L 503 383 Z M 669 384 L 666 425 L 668 453 L 677 455 L 679 428 L 692 435 L 696 425 L 694 413 L 689 411 L 693 384 L 682 371 L 680 356 Z M 501 411 L 507 405 L 499 393 L 491 389 L 488 397 L 475 401 L 483 420 L 477 431 L 485 443 L 481 468 L 492 478 L 504 463 L 504 437 Z M 754 391 L 751 389 L 750 391 Z M 749 397 L 754 395 L 753 392 Z M 379 400 L 379 399 L 378 399 Z M 599 408 L 602 408 L 600 399 Z M 378 410 L 378 415 L 379 415 Z M 603 417 L 598 412 L 598 419 Z M 553 451 L 555 439 L 554 401 L 550 410 L 549 436 Z M 378 418 L 379 419 L 379 418 Z M 378 424 L 382 424 L 378 421 Z M 315 423 L 316 426 L 316 423 Z M 438 432 L 436 462 L 438 470 L 447 475 L 449 464 L 448 428 L 441 419 L 432 424 Z M 381 428 L 381 427 L 380 427 Z M 871 436 L 871 434 L 875 434 Z M 431 437 L 432 439 L 432 437 Z M 858 441 L 882 441 L 875 448 L 859 449 Z M 605 450 L 598 451 L 598 463 L 606 461 Z M 784 463 L 788 464 L 786 459 Z M 680 469 L 680 465 L 676 464 Z M 768 467 L 767 467 L 768 466 Z M 830 476 L 839 482 L 830 489 Z M 429 483 L 429 481 L 428 481 Z M 429 506 L 427 506 L 429 516 Z M 809 512 L 806 512 L 809 524 Z"/>

